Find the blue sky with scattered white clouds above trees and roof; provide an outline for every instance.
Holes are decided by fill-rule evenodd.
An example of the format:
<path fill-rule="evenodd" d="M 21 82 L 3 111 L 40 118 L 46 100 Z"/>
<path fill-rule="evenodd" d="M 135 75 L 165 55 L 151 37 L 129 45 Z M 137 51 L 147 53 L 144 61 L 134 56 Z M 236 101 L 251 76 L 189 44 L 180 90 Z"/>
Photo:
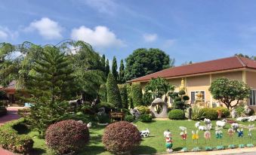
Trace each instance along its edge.
<path fill-rule="evenodd" d="M 157 47 L 175 65 L 256 55 L 255 8 L 249 0 L 2 0 L 0 42 L 79 39 L 118 61 Z"/>

